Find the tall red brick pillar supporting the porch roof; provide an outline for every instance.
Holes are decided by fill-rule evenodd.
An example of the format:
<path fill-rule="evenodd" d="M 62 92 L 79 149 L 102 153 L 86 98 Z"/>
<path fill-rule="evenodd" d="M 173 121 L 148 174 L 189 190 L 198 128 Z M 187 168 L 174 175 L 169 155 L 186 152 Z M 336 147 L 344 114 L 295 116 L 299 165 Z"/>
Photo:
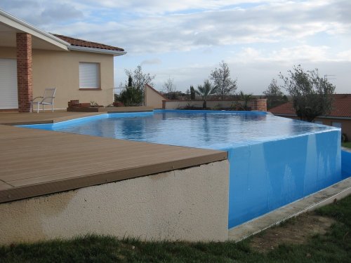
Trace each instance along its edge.
<path fill-rule="evenodd" d="M 17 33 L 16 44 L 18 110 L 19 112 L 29 112 L 30 101 L 33 97 L 32 35 L 27 33 Z"/>

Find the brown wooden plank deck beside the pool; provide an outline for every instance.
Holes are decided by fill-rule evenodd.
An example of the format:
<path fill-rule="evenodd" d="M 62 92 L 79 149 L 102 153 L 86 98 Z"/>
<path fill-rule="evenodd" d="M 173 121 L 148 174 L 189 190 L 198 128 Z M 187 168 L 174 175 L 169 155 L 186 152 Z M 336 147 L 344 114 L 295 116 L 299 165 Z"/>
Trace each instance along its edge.
<path fill-rule="evenodd" d="M 0 113 L 0 123 L 94 114 Z M 227 152 L 0 125 L 0 203 L 227 159 Z"/>

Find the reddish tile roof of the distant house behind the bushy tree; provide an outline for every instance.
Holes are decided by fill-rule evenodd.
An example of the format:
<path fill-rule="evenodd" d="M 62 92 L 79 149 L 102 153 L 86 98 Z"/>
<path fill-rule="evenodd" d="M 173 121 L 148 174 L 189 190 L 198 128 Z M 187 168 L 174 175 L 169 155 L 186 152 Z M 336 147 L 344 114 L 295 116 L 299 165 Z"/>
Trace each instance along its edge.
<path fill-rule="evenodd" d="M 329 117 L 351 117 L 351 94 L 335 94 L 333 109 Z M 293 102 L 286 102 L 269 110 L 272 114 L 295 115 Z"/>

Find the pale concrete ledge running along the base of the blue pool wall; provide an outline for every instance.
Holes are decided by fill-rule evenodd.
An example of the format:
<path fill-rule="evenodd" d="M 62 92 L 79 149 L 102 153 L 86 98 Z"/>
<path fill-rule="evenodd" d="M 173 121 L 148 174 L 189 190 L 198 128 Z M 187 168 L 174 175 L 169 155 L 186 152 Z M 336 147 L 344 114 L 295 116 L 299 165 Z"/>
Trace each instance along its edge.
<path fill-rule="evenodd" d="M 302 213 L 315 210 L 321 206 L 333 203 L 338 199 L 351 194 L 351 177 L 348 177 L 330 187 L 317 191 L 298 201 L 284 205 L 282 208 L 273 210 L 270 213 L 256 217 L 249 222 L 232 227 L 228 230 L 228 240 L 239 242 L 250 236 L 260 233 L 265 229 L 277 226 L 282 222 L 296 217 Z"/>

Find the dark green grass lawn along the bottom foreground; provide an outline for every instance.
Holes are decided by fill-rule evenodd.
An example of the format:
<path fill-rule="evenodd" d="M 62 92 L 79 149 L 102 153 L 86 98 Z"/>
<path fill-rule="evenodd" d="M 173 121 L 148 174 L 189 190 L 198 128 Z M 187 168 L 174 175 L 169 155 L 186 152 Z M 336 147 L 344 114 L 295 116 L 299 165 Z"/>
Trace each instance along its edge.
<path fill-rule="evenodd" d="M 267 253 L 239 243 L 142 242 L 109 236 L 0 247 L 0 262 L 350 262 L 351 196 L 317 210 L 336 220 L 324 235 L 300 245 L 283 244 Z M 285 223 L 286 224 L 286 223 Z"/>

